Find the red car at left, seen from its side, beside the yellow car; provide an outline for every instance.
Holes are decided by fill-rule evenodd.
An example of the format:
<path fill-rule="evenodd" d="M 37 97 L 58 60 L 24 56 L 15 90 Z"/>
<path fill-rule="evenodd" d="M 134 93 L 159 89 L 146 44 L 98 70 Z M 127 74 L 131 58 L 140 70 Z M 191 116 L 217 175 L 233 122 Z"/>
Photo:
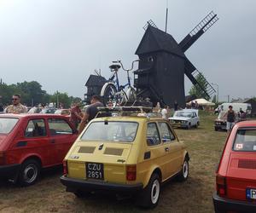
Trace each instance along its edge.
<path fill-rule="evenodd" d="M 41 169 L 62 164 L 77 137 L 66 116 L 1 114 L 0 178 L 32 185 Z"/>

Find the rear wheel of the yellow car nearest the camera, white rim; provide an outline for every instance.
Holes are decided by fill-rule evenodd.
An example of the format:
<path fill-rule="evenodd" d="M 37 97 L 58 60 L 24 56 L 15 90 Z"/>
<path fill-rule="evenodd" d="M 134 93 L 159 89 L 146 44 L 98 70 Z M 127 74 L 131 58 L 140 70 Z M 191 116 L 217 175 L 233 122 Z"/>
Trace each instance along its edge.
<path fill-rule="evenodd" d="M 157 206 L 160 199 L 160 176 L 154 173 L 148 181 L 147 187 L 143 189 L 143 192 L 137 199 L 138 205 L 143 208 L 153 209 Z"/>

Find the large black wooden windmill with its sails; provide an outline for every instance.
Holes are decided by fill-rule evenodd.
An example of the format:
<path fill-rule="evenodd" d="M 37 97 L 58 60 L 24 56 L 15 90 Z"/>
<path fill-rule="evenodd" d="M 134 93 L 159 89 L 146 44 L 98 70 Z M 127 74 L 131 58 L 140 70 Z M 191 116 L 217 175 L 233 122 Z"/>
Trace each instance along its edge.
<path fill-rule="evenodd" d="M 201 89 L 204 97 L 215 90 L 184 54 L 204 32 L 218 20 L 211 12 L 183 38 L 180 43 L 172 35 L 158 29 L 150 20 L 143 39 L 136 50 L 140 61 L 134 72 L 134 86 L 138 98 L 150 98 L 155 104 L 185 106 L 184 74 Z"/>

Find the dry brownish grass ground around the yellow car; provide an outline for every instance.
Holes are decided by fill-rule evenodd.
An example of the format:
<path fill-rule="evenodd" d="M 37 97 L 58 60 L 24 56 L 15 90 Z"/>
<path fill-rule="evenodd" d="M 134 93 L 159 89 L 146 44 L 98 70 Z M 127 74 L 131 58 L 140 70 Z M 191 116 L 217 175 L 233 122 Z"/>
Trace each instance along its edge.
<path fill-rule="evenodd" d="M 213 212 L 214 172 L 227 133 L 213 130 L 214 115 L 200 115 L 201 126 L 197 130 L 176 131 L 189 150 L 189 180 L 167 182 L 154 210 L 141 210 L 132 199 L 118 201 L 103 195 L 77 199 L 65 192 L 59 181 L 61 169 L 57 169 L 44 172 L 32 187 L 0 182 L 0 212 Z"/>

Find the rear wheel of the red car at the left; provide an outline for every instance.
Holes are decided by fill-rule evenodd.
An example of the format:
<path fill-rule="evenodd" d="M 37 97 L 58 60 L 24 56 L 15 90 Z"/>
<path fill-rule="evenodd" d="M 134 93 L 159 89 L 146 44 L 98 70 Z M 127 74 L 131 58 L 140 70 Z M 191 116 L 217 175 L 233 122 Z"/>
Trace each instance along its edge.
<path fill-rule="evenodd" d="M 19 183 L 23 187 L 30 186 L 40 176 L 40 164 L 35 159 L 28 159 L 20 166 Z"/>

